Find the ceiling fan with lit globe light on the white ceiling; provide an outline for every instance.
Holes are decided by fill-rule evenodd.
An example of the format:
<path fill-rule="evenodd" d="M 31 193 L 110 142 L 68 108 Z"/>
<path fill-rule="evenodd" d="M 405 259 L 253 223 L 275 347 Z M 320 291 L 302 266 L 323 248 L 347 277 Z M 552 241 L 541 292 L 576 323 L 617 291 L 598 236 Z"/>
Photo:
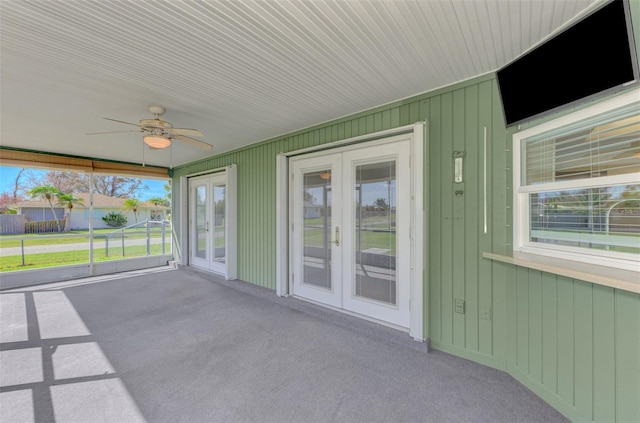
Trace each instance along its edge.
<path fill-rule="evenodd" d="M 117 119 L 104 118 L 113 122 L 124 123 L 126 125 L 137 126 L 138 129 L 131 131 L 111 131 L 111 132 L 92 132 L 87 135 L 99 135 L 99 134 L 116 134 L 122 132 L 144 132 L 142 137 L 145 144 L 152 150 L 158 150 L 166 148 L 171 145 L 172 140 L 178 140 L 191 144 L 195 147 L 199 147 L 205 150 L 213 149 L 211 144 L 196 140 L 191 137 L 203 137 L 204 134 L 197 129 L 189 128 L 174 128 L 169 122 L 160 119 L 165 112 L 165 108 L 162 106 L 149 106 L 149 111 L 153 113 L 153 119 L 140 119 L 139 123 L 124 122 Z"/>

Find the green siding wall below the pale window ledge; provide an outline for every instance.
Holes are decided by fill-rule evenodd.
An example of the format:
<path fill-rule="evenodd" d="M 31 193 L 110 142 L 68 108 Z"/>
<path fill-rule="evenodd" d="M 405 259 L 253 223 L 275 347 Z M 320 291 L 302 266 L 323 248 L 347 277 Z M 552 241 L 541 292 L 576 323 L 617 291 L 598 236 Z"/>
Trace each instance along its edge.
<path fill-rule="evenodd" d="M 508 370 L 580 421 L 640 421 L 640 295 L 507 267 Z"/>

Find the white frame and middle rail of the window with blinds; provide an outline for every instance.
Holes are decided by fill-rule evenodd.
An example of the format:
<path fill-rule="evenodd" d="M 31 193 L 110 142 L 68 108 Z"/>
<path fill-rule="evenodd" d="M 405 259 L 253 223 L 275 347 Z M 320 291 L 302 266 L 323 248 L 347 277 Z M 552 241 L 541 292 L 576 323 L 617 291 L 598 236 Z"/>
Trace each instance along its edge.
<path fill-rule="evenodd" d="M 560 191 L 568 189 L 606 187 L 620 184 L 637 184 L 640 172 L 623 175 L 582 178 L 560 182 L 545 182 L 534 185 L 522 185 L 522 142 L 544 132 L 554 131 L 579 121 L 596 117 L 611 110 L 637 103 L 640 108 L 640 90 L 633 90 L 601 103 L 569 113 L 557 119 L 513 134 L 513 250 L 552 256 L 559 259 L 598 264 L 613 268 L 639 270 L 640 255 L 607 250 L 596 250 L 566 245 L 554 245 L 530 240 L 529 196 L 532 193 Z"/>

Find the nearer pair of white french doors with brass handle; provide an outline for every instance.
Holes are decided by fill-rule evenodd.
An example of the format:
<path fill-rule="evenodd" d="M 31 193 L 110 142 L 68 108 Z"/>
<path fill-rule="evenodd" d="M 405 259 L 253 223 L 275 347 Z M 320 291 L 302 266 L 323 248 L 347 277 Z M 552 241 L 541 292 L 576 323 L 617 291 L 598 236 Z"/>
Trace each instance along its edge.
<path fill-rule="evenodd" d="M 411 143 L 291 159 L 293 294 L 410 326 Z"/>

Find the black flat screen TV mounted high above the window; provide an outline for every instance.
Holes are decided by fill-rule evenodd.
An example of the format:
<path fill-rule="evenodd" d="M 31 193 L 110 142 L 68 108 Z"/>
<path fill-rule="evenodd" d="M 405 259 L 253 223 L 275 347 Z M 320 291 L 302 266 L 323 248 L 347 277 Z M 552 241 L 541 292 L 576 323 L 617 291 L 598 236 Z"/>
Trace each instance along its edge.
<path fill-rule="evenodd" d="M 507 126 L 637 83 L 628 0 L 613 0 L 497 72 Z"/>

